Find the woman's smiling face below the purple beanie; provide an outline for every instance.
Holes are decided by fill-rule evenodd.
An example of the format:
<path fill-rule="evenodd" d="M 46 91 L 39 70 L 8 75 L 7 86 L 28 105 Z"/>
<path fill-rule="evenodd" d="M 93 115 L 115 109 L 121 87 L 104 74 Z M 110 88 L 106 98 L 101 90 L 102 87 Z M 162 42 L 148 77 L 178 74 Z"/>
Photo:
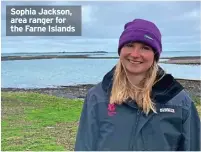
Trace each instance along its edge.
<path fill-rule="evenodd" d="M 121 49 L 120 60 L 128 73 L 143 75 L 154 62 L 154 51 L 140 42 L 128 43 Z"/>

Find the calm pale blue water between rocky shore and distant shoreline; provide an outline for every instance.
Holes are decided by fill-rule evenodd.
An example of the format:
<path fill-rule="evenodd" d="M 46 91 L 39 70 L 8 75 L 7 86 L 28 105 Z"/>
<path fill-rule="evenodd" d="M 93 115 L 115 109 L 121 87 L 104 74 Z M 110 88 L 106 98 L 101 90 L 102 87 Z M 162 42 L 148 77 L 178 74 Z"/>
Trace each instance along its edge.
<path fill-rule="evenodd" d="M 117 59 L 41 59 L 2 61 L 1 87 L 43 88 L 95 84 Z M 200 79 L 200 66 L 159 64 L 176 78 Z"/>

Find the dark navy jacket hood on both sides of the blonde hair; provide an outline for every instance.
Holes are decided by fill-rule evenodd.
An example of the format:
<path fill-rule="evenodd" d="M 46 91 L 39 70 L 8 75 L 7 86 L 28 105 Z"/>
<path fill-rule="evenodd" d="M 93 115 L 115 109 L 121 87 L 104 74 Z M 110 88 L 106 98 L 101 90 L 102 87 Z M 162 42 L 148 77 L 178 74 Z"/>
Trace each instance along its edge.
<path fill-rule="evenodd" d="M 107 93 L 107 95 L 110 95 L 111 93 L 115 69 L 116 66 L 114 66 L 103 77 L 102 80 L 102 88 Z M 156 79 L 160 79 L 163 74 L 164 70 L 159 66 Z M 171 74 L 165 74 L 161 80 L 153 85 L 151 97 L 152 99 L 154 99 L 154 102 L 165 104 L 183 89 L 183 86 L 179 82 L 177 82 Z"/>

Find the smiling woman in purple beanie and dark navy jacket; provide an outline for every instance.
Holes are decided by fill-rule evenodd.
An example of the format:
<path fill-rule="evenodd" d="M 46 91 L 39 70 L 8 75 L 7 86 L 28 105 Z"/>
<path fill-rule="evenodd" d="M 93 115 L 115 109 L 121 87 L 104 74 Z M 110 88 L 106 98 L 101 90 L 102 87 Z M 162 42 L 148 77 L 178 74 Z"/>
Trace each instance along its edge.
<path fill-rule="evenodd" d="M 200 150 L 192 99 L 157 65 L 161 33 L 147 20 L 127 23 L 117 65 L 84 101 L 75 151 Z"/>

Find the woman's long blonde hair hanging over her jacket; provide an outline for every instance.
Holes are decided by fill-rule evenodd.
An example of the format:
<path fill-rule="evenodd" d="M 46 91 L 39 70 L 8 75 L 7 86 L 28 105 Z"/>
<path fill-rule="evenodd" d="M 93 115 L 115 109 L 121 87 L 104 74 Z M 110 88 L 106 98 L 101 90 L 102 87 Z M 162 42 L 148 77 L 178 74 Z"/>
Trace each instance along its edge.
<path fill-rule="evenodd" d="M 137 105 L 143 109 L 144 113 L 148 114 L 151 110 L 156 113 L 150 95 L 152 86 L 157 82 L 157 71 L 158 65 L 154 61 L 153 65 L 148 70 L 146 77 L 140 82 L 143 89 L 139 89 L 130 83 L 126 69 L 121 63 L 121 60 L 119 60 L 114 72 L 110 103 L 122 104 L 123 102 L 126 102 L 128 98 L 131 98 L 132 100 L 130 101 L 136 101 Z"/>

